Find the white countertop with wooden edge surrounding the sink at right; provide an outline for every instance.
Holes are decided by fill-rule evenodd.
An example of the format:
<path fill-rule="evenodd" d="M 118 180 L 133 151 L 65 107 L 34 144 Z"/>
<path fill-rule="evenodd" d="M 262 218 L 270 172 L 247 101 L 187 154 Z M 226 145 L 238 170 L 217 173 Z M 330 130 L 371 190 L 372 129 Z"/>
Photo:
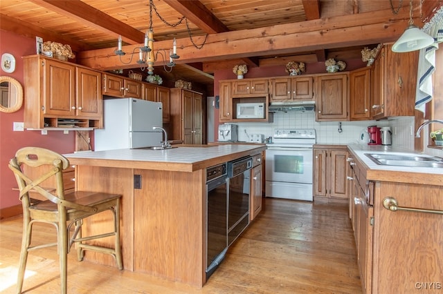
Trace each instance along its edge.
<path fill-rule="evenodd" d="M 423 155 L 422 153 L 381 145 L 350 144 L 347 147 L 370 169 L 367 172 L 367 179 L 443 186 L 443 168 L 383 166 L 374 163 L 365 155 L 365 153 L 410 153 Z"/>

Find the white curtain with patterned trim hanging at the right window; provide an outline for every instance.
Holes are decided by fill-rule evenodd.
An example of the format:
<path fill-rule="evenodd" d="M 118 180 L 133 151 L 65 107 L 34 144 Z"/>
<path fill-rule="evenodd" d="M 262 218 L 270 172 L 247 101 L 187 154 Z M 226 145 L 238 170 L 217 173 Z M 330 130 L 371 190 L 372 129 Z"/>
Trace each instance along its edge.
<path fill-rule="evenodd" d="M 435 50 L 438 49 L 438 43 L 443 42 L 443 6 L 423 26 L 422 31 L 435 40 L 431 46 L 420 49 L 419 53 L 415 109 L 424 112 L 425 104 L 431 101 L 433 97 L 431 76 L 435 72 L 435 66 L 443 68 L 443 64 L 435 64 Z"/>

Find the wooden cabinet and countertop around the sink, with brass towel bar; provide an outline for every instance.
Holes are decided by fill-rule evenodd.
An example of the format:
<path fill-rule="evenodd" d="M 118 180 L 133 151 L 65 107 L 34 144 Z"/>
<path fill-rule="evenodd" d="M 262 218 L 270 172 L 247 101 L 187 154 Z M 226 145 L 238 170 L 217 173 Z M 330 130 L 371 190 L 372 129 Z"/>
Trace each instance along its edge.
<path fill-rule="evenodd" d="M 378 165 L 366 155 L 419 155 L 400 148 L 348 148 L 350 217 L 363 293 L 440 293 L 443 168 Z"/>

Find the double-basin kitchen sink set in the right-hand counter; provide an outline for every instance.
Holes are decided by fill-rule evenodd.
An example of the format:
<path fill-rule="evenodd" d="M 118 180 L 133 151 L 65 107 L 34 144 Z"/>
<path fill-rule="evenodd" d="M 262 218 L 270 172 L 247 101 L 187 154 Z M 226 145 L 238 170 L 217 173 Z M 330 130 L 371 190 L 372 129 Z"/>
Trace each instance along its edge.
<path fill-rule="evenodd" d="M 416 154 L 365 153 L 376 164 L 383 166 L 410 166 L 419 168 L 443 168 L 443 158 Z"/>

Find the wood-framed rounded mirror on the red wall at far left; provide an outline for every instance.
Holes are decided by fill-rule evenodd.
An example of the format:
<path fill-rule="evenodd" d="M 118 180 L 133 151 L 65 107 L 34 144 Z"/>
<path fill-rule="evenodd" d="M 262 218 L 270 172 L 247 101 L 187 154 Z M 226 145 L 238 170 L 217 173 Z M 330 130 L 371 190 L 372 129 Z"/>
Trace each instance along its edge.
<path fill-rule="evenodd" d="M 12 77 L 0 77 L 0 111 L 15 112 L 23 104 L 23 88 Z"/>

